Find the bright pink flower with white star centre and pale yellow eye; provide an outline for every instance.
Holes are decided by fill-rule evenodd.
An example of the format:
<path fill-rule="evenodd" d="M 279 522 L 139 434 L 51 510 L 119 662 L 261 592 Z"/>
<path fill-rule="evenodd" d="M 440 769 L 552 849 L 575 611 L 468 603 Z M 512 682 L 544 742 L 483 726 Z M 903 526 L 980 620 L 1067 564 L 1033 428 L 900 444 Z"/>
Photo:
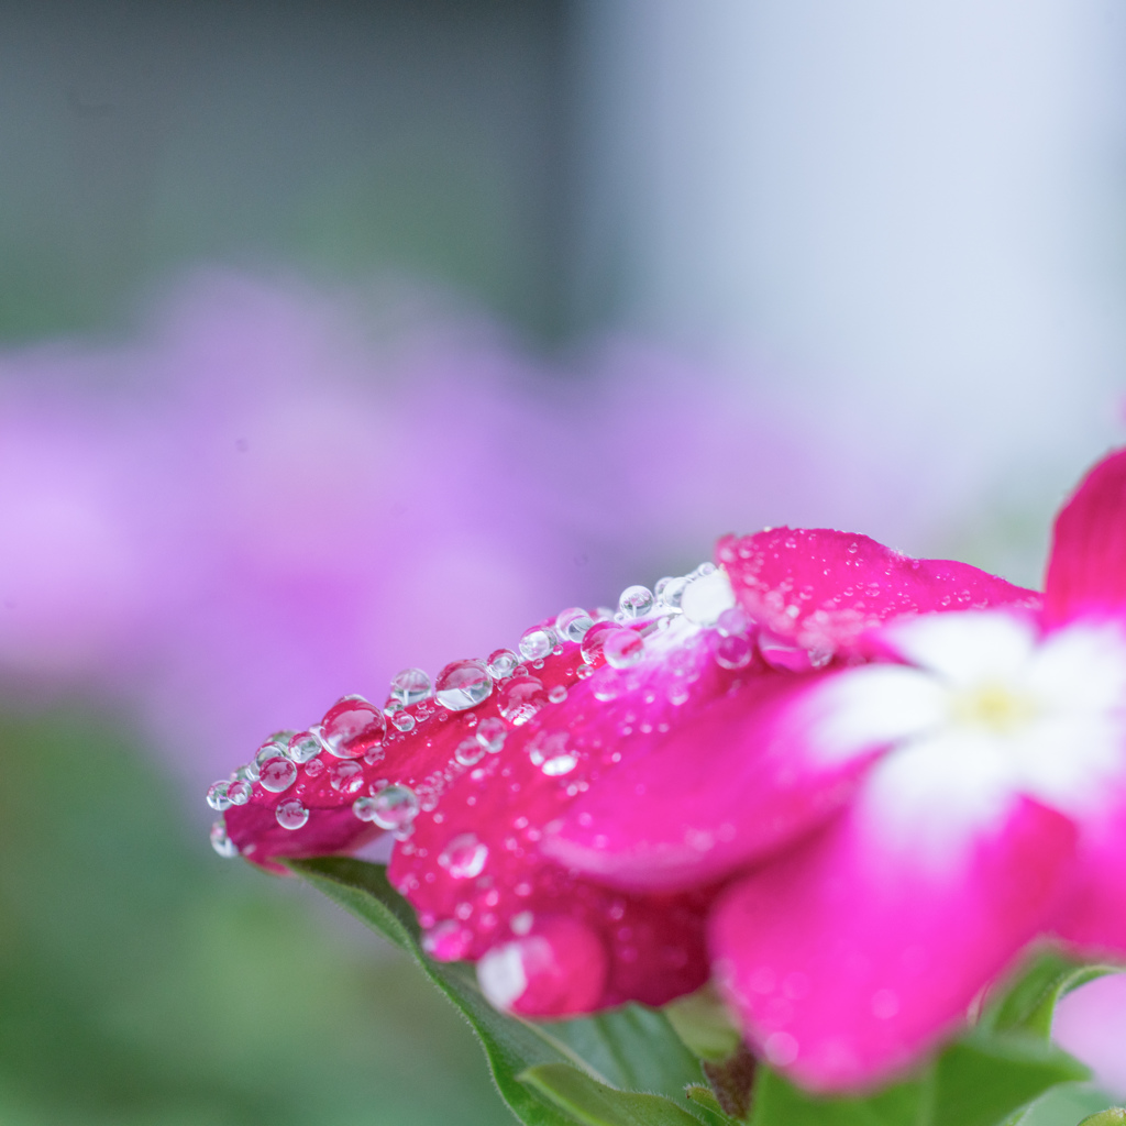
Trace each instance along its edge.
<path fill-rule="evenodd" d="M 795 604 L 775 605 L 769 583 L 741 586 L 730 547 L 721 560 L 744 607 L 783 623 Z M 933 593 L 929 578 L 923 586 Z M 896 587 L 888 574 L 872 591 Z M 839 793 L 842 779 L 847 802 L 729 884 L 711 950 L 771 1063 L 808 1087 L 850 1089 L 887 1079 L 957 1027 L 1037 935 L 1126 953 L 1126 453 L 1061 513 L 1042 610 L 994 599 L 989 610 L 914 613 L 945 608 L 931 598 L 878 628 L 858 617 L 842 634 L 796 605 L 803 641 L 828 635 L 882 659 L 812 679 L 778 714 L 759 709 L 748 741 L 760 757 L 781 748 L 806 802 Z M 646 763 L 636 777 L 647 801 L 624 824 L 615 811 L 635 779 L 613 777 L 568 811 L 552 849 L 622 887 L 715 879 L 718 850 L 670 866 L 660 848 L 683 823 L 678 807 L 711 807 L 734 839 L 753 839 L 747 803 L 760 819 L 756 787 L 775 806 L 783 787 L 761 769 L 741 774 L 745 761 L 721 750 L 679 806 L 672 779 L 679 766 L 683 788 L 685 760 Z"/>

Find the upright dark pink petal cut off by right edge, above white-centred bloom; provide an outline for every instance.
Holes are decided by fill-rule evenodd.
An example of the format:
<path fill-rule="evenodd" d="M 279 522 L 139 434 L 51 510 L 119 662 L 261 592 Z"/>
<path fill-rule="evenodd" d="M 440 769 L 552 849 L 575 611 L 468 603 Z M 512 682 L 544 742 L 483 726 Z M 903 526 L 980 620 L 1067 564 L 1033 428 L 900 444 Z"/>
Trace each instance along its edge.
<path fill-rule="evenodd" d="M 1126 450 L 1101 461 L 1056 517 L 1045 617 L 1126 608 Z"/>

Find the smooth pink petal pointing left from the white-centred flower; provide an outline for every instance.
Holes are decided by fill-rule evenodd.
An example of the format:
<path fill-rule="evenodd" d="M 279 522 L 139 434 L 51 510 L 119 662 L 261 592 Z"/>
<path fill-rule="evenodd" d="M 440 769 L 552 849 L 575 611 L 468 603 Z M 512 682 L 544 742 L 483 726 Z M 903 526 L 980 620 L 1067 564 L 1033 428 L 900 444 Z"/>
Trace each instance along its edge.
<path fill-rule="evenodd" d="M 823 673 L 763 673 L 698 707 L 690 725 L 652 740 L 579 797 L 549 826 L 544 851 L 616 887 L 679 890 L 721 879 L 821 823 L 887 742 L 811 753 L 810 708 L 823 711 L 824 682 Z"/>

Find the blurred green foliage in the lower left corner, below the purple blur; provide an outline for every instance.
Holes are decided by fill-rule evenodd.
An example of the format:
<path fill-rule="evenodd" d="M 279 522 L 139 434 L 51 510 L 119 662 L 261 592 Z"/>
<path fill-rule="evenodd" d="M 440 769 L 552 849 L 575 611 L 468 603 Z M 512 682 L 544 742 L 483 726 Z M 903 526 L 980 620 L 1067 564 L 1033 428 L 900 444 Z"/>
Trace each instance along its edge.
<path fill-rule="evenodd" d="M 0 1121 L 501 1124 L 468 1028 L 295 881 L 221 860 L 104 718 L 0 725 Z"/>

